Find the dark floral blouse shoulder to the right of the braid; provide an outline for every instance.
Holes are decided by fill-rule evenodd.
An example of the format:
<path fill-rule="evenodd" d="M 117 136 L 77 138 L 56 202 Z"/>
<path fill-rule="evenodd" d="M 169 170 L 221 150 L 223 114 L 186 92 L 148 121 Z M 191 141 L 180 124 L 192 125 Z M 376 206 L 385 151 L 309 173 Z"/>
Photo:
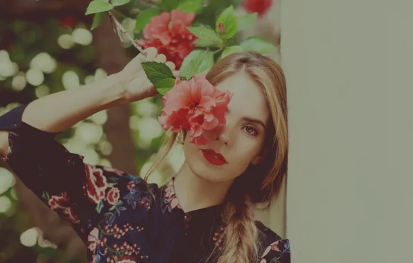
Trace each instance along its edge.
<path fill-rule="evenodd" d="M 290 263 L 290 240 L 283 239 L 261 221 L 256 221 L 256 226 L 261 235 L 260 263 Z"/>

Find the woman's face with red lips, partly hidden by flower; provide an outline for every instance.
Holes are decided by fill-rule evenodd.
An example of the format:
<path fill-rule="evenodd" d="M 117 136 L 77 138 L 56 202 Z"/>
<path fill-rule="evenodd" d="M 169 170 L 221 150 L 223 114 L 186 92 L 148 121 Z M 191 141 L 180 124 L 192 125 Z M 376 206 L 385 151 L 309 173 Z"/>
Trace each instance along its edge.
<path fill-rule="evenodd" d="M 241 72 L 225 79 L 217 89 L 234 93 L 220 134 L 206 131 L 207 145 L 196 147 L 189 136 L 184 142 L 186 164 L 196 176 L 214 182 L 234 181 L 247 167 L 261 161 L 265 130 L 270 124 L 270 111 L 263 91 L 247 73 Z M 216 158 L 211 150 L 221 154 Z"/>

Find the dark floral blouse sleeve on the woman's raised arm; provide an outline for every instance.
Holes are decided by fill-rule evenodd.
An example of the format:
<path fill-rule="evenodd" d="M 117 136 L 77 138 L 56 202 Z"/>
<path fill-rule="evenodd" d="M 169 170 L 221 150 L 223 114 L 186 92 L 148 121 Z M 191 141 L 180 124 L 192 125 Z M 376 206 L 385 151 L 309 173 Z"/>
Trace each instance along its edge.
<path fill-rule="evenodd" d="M 119 200 L 118 184 L 130 179 L 109 167 L 88 165 L 48 133 L 21 121 L 27 105 L 0 116 L 0 130 L 8 132 L 3 158 L 21 181 L 58 213 L 87 242 L 87 233 Z"/>

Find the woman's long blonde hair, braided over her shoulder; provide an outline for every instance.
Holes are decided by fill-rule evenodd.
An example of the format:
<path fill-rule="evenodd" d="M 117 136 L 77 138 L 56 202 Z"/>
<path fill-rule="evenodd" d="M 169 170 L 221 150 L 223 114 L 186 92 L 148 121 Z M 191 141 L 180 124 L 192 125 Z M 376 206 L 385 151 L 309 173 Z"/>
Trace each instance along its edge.
<path fill-rule="evenodd" d="M 250 165 L 238 176 L 227 194 L 222 212 L 225 241 L 218 255 L 220 262 L 225 263 L 258 260 L 260 244 L 253 205 L 264 202 L 269 206 L 272 197 L 278 196 L 288 163 L 287 94 L 281 67 L 257 53 L 234 53 L 215 64 L 207 73 L 207 80 L 217 85 L 240 71 L 247 73 L 265 94 L 272 125 L 265 135 L 265 158 L 257 165 Z M 184 136 L 185 133 L 168 131 L 157 160 L 146 173 L 145 180 L 164 163 L 170 150 L 177 143 L 182 143 L 179 138 Z"/>

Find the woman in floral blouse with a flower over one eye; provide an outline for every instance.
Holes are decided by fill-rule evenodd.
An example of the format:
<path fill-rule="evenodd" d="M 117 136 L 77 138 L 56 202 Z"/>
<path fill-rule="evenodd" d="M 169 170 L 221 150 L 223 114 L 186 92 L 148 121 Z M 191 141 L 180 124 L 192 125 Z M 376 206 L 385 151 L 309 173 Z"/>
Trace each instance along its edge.
<path fill-rule="evenodd" d="M 237 53 L 213 66 L 207 80 L 233 94 L 227 123 L 204 133 L 206 145 L 172 133 L 157 165 L 179 142 L 186 161 L 166 185 L 88 165 L 55 141 L 100 110 L 157 94 L 141 62 L 166 57 L 155 48 L 146 54 L 105 80 L 1 116 L 0 149 L 8 165 L 73 226 L 89 262 L 290 262 L 288 239 L 254 221 L 252 212 L 254 203 L 279 192 L 287 167 L 285 79 L 272 60 Z"/>

